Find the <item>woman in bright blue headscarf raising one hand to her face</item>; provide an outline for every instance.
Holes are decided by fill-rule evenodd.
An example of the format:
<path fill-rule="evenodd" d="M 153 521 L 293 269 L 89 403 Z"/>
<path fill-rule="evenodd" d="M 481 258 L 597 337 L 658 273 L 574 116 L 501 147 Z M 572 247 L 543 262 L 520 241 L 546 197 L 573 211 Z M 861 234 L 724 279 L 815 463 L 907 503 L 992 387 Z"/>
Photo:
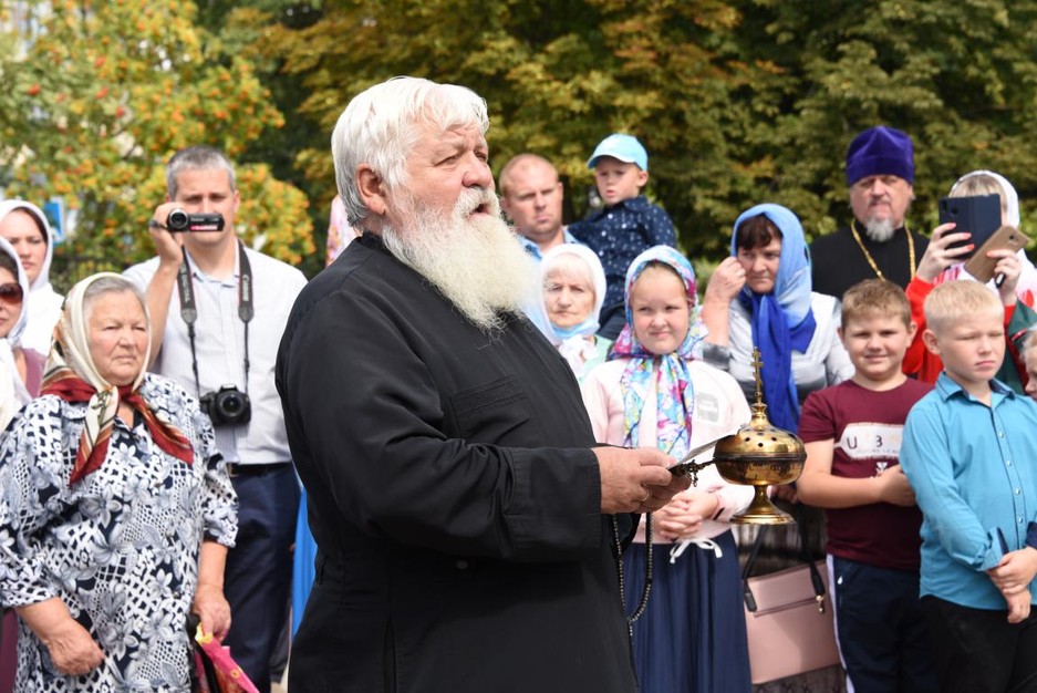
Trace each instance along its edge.
<path fill-rule="evenodd" d="M 753 400 L 758 346 L 767 414 L 795 433 L 808 394 L 853 375 L 837 331 L 839 301 L 811 291 L 810 251 L 799 219 L 786 207 L 766 204 L 742 213 L 730 254 L 703 299 L 709 331 L 703 356 L 734 375 Z"/>

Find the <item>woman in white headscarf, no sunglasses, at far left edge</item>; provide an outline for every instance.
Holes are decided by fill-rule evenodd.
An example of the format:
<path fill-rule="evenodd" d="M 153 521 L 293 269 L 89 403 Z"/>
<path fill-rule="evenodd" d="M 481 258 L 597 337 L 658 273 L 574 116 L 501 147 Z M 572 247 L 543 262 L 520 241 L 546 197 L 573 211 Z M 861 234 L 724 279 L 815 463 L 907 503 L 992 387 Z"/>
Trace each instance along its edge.
<path fill-rule="evenodd" d="M 23 199 L 8 199 L 0 201 L 0 238 L 14 248 L 29 279 L 27 303 L 31 308 L 22 345 L 45 356 L 63 300 L 50 281 L 54 235 L 39 207 Z"/>

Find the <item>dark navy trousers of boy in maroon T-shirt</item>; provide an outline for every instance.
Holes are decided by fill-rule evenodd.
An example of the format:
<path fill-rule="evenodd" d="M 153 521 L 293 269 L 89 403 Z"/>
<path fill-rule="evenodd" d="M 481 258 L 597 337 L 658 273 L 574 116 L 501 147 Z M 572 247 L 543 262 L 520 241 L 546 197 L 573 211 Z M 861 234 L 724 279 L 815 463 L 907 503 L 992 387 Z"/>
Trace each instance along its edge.
<path fill-rule="evenodd" d="M 919 573 L 831 557 L 839 653 L 854 693 L 936 693 Z"/>

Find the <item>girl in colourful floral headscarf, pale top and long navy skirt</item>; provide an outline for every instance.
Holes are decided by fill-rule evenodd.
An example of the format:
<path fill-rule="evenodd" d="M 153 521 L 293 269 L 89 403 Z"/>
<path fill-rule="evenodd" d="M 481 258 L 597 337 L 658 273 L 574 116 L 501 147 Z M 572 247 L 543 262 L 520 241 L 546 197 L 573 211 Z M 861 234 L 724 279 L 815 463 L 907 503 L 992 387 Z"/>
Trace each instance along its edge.
<path fill-rule="evenodd" d="M 696 354 L 695 275 L 668 246 L 641 254 L 626 272 L 626 325 L 610 361 L 583 382 L 598 441 L 659 447 L 676 458 L 749 420 L 738 384 Z M 708 459 L 711 453 L 699 459 Z M 738 550 L 727 520 L 753 492 L 716 469 L 654 514 L 652 596 L 634 623 L 644 691 L 749 690 Z M 640 535 L 623 555 L 628 611 L 641 600 L 647 551 Z"/>

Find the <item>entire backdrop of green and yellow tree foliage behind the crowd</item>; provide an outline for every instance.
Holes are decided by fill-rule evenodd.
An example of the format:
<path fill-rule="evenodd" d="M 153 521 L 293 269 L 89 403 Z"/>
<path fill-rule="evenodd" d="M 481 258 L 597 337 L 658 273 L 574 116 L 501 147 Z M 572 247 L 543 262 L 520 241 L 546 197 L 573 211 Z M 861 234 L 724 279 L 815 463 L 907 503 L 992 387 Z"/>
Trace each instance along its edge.
<path fill-rule="evenodd" d="M 322 242 L 334 122 L 397 74 L 485 96 L 495 169 L 548 156 L 569 218 L 585 211 L 593 146 L 636 134 L 649 194 L 695 257 L 724 256 L 732 221 L 759 201 L 795 209 L 810 236 L 846 224 L 846 147 L 879 123 L 914 138 L 916 227 L 973 168 L 1037 193 L 1034 0 L 46 4 L 24 59 L 0 35 L 0 167 L 10 190 L 79 205 L 82 241 L 106 257 L 149 252 L 138 229 L 162 196 L 156 164 L 200 139 L 256 165 L 249 232 L 312 273 L 300 190 Z"/>

